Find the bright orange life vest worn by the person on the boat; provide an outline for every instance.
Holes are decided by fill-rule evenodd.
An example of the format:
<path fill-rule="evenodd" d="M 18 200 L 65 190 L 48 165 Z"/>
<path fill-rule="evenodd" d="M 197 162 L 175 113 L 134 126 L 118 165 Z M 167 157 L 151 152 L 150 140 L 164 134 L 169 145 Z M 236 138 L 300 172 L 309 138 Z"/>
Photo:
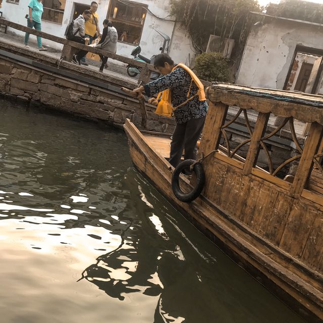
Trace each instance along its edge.
<path fill-rule="evenodd" d="M 194 82 L 196 84 L 196 86 L 198 87 L 198 90 L 197 90 L 196 94 L 189 97 L 186 101 L 184 101 L 183 103 L 181 103 L 180 105 L 175 106 L 175 107 L 172 106 L 172 93 L 171 93 L 170 89 L 166 89 L 163 92 L 158 93 L 157 100 L 159 100 L 159 102 L 158 102 L 158 105 L 157 105 L 156 111 L 155 111 L 155 114 L 157 114 L 157 115 L 164 116 L 164 117 L 173 117 L 174 111 L 178 107 L 186 104 L 188 101 L 190 101 L 196 95 L 198 95 L 198 98 L 200 101 L 206 100 L 204 86 L 203 86 L 202 82 L 198 79 L 198 77 L 195 75 L 195 73 L 190 68 L 188 68 L 186 65 L 184 65 L 182 63 L 176 65 L 172 69 L 172 71 L 174 71 L 177 67 L 183 68 L 192 78 L 190 88 L 187 92 L 187 97 L 190 94 L 192 82 Z"/>

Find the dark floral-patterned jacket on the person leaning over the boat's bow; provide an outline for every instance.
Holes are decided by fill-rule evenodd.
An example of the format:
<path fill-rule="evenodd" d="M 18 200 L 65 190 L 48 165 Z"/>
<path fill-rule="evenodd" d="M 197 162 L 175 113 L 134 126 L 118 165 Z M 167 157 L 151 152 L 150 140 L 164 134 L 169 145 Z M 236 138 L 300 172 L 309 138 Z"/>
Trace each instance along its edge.
<path fill-rule="evenodd" d="M 147 83 L 144 85 L 144 89 L 147 96 L 152 96 L 166 89 L 171 89 L 172 105 L 176 107 L 196 94 L 198 88 L 196 84 L 192 82 L 190 89 L 191 81 L 191 76 L 183 68 L 178 67 L 170 74 Z M 187 96 L 188 91 L 190 92 Z M 199 101 L 198 95 L 196 95 L 193 99 L 175 110 L 174 115 L 176 123 L 183 124 L 192 119 L 205 117 L 207 108 L 206 101 Z"/>

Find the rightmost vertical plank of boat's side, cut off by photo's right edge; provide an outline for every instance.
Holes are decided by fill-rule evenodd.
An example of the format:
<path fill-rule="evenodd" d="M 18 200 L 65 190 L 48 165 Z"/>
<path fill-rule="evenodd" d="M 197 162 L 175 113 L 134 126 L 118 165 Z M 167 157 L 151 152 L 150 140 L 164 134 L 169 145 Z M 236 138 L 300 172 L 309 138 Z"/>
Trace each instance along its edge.
<path fill-rule="evenodd" d="M 309 233 L 301 260 L 313 270 L 318 270 L 323 256 L 323 212 L 318 211 Z"/>

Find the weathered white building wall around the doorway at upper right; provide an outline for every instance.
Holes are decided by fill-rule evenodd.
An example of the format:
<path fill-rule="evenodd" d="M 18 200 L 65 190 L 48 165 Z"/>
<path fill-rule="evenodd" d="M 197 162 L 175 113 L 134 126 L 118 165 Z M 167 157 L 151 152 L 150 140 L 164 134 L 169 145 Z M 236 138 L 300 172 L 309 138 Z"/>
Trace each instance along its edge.
<path fill-rule="evenodd" d="M 283 89 L 296 45 L 323 49 L 323 29 L 279 19 L 253 26 L 236 84 Z"/>

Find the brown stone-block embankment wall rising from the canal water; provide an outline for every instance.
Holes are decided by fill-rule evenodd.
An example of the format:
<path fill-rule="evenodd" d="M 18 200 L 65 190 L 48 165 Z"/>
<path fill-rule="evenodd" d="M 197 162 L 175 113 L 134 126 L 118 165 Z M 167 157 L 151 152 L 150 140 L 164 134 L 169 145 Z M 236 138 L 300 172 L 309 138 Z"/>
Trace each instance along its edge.
<path fill-rule="evenodd" d="M 4 59 L 0 59 L 0 93 L 117 127 L 122 127 L 135 111 L 133 122 L 138 127 L 141 125 L 140 107 L 135 99 Z M 152 105 L 146 107 L 149 130 L 173 131 L 173 119 L 157 116 Z"/>

